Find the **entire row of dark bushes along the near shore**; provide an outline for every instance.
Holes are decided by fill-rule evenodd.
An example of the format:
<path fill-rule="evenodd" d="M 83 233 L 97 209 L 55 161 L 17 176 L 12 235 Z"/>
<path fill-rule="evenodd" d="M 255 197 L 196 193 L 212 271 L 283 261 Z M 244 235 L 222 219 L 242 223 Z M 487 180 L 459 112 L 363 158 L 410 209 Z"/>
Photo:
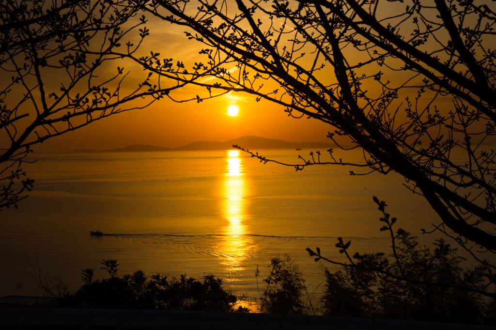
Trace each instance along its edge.
<path fill-rule="evenodd" d="M 46 294 L 59 295 L 60 307 L 252 311 L 496 325 L 496 299 L 461 289 L 484 282 L 484 270 L 463 268 L 465 259 L 442 239 L 436 240 L 431 249 L 421 246 L 416 236 L 400 231 L 396 255 L 403 272 L 422 276 L 424 282 L 445 285 L 391 281 L 377 275 L 370 267 L 380 264 L 383 255 L 362 255 L 356 266 L 335 272 L 324 268 L 325 285 L 320 291 L 306 285 L 289 256 L 272 257 L 267 266 L 269 274 L 262 281 L 264 289 L 251 308 L 240 306 L 237 297 L 223 287 L 222 279 L 214 275 L 168 278 L 137 271 L 120 276 L 119 264 L 113 259 L 101 263 L 107 278 L 94 279 L 94 269 L 82 270 L 84 284 L 72 293 L 66 287 L 60 290 L 60 283 L 53 279 L 48 282 L 38 276 L 37 282 Z M 260 274 L 257 269 L 255 275 Z M 58 290 L 54 290 L 56 287 Z"/>

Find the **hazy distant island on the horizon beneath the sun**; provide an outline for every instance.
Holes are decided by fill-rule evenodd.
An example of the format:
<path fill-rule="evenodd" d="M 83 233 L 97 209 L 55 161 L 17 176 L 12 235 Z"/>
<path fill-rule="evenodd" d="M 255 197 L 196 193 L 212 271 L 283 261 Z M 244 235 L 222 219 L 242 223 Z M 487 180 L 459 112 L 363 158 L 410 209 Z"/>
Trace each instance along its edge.
<path fill-rule="evenodd" d="M 87 150 L 76 149 L 74 153 L 102 153 L 102 152 L 145 152 L 145 151 L 208 151 L 208 150 L 228 150 L 233 149 L 233 144 L 236 144 L 245 149 L 329 149 L 335 148 L 332 143 L 323 142 L 287 142 L 284 140 L 266 139 L 257 136 L 243 136 L 226 142 L 216 141 L 197 141 L 191 142 L 186 146 L 168 148 L 157 147 L 151 145 L 135 144 L 125 148 L 117 148 L 112 150 Z"/>

